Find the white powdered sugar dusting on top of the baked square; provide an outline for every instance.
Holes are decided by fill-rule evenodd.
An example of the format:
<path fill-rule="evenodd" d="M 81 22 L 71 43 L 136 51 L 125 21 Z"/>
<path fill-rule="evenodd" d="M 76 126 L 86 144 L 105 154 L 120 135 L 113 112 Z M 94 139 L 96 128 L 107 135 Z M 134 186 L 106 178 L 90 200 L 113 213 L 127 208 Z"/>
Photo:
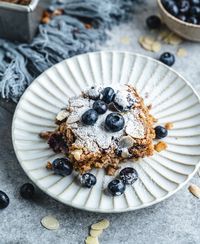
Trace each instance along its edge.
<path fill-rule="evenodd" d="M 127 94 L 126 94 L 127 95 Z M 122 136 L 131 132 L 133 138 L 143 138 L 145 134 L 144 125 L 139 120 L 138 109 L 132 108 L 129 112 L 123 113 L 125 119 L 125 127 L 118 132 L 108 132 L 104 128 L 104 123 L 107 115 L 113 111 L 107 110 L 103 115 L 99 115 L 97 122 L 92 125 L 84 125 L 81 121 L 82 114 L 92 108 L 93 100 L 87 97 L 77 97 L 69 99 L 69 109 L 71 111 L 67 118 L 67 125 L 73 129 L 77 147 L 86 147 L 92 152 L 97 152 L 100 149 L 107 149 L 110 146 L 116 145 L 116 141 Z M 116 145 L 117 146 L 117 145 Z"/>

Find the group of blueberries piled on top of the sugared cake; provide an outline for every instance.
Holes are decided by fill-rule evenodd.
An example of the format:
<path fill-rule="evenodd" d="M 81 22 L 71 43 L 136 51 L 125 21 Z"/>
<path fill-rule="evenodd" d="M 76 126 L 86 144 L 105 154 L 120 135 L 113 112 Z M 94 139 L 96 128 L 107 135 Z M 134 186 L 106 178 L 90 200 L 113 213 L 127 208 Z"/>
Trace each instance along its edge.
<path fill-rule="evenodd" d="M 108 110 L 108 105 L 110 103 L 113 103 L 115 108 L 119 112 L 128 111 L 134 103 L 133 99 L 127 96 L 128 105 L 123 107 L 121 106 L 121 104 L 119 104 L 119 99 L 117 99 L 118 96 L 119 94 L 115 93 L 115 91 L 111 87 L 104 88 L 101 94 L 97 93 L 96 96 L 94 96 L 94 93 L 92 93 L 91 96 L 89 95 L 89 98 L 95 101 L 93 103 L 93 108 L 87 110 L 82 115 L 81 117 L 82 122 L 85 125 L 94 125 L 98 120 L 98 116 L 106 113 L 106 111 Z M 106 117 L 105 129 L 111 132 L 117 132 L 123 129 L 124 124 L 125 124 L 125 120 L 123 116 L 118 112 L 113 112 L 108 114 Z"/>

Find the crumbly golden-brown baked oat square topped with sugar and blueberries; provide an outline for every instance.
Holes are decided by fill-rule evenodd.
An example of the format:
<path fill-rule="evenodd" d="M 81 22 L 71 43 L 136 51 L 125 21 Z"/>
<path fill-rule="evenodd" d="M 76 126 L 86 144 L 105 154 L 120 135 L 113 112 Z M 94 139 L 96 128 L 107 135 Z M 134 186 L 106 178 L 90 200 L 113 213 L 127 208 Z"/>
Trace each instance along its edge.
<path fill-rule="evenodd" d="M 155 119 L 132 86 L 92 87 L 69 98 L 53 132 L 40 136 L 83 174 L 105 168 L 113 175 L 126 159 L 151 156 Z"/>

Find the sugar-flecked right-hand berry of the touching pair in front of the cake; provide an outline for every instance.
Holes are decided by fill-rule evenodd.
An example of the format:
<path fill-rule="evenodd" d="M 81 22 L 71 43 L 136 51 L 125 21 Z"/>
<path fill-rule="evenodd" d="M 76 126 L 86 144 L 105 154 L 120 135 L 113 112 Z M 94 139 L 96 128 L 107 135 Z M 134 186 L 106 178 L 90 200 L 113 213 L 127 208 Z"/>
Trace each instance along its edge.
<path fill-rule="evenodd" d="M 119 177 L 125 185 L 132 185 L 138 179 L 138 173 L 134 168 L 127 167 L 120 171 Z"/>

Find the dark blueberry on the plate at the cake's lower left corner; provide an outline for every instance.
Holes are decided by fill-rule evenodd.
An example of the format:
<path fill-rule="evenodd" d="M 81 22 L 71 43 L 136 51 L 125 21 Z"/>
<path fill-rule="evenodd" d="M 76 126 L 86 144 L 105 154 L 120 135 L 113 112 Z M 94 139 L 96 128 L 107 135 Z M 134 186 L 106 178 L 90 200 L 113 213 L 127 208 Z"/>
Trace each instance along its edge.
<path fill-rule="evenodd" d="M 72 173 L 73 166 L 68 158 L 57 158 L 52 163 L 52 169 L 55 174 L 66 176 Z"/>

